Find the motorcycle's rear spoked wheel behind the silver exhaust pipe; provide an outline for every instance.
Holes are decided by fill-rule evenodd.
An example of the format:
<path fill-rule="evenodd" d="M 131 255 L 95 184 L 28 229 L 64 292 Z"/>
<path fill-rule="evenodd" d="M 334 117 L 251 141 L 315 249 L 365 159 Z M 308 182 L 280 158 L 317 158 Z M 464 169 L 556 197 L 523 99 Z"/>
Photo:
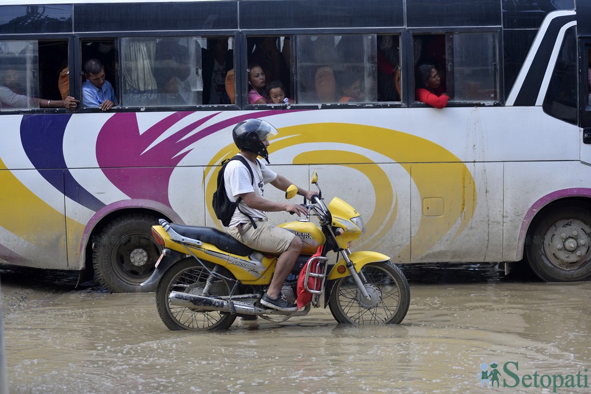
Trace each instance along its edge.
<path fill-rule="evenodd" d="M 204 262 L 209 270 L 213 270 L 215 264 Z M 219 274 L 232 278 L 232 274 L 225 268 L 217 267 Z M 199 310 L 170 305 L 168 295 L 171 291 L 202 295 L 209 272 L 192 257 L 187 257 L 165 272 L 158 283 L 156 290 L 156 307 L 160 319 L 173 331 L 178 330 L 225 330 L 232 326 L 236 315 L 210 310 Z M 229 295 L 232 283 L 223 278 L 216 278 L 209 287 L 207 294 L 224 296 Z"/>

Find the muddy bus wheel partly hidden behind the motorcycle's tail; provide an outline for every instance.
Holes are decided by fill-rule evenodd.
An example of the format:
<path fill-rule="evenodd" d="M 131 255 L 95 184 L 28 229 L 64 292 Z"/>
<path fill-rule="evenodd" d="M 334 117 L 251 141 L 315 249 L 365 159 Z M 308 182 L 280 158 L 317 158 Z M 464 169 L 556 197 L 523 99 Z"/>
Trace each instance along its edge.
<path fill-rule="evenodd" d="M 151 226 L 157 218 L 131 214 L 116 218 L 93 240 L 92 265 L 99 283 L 109 293 L 155 291 L 157 283 L 142 287 L 150 278 L 161 247 L 154 241 Z"/>

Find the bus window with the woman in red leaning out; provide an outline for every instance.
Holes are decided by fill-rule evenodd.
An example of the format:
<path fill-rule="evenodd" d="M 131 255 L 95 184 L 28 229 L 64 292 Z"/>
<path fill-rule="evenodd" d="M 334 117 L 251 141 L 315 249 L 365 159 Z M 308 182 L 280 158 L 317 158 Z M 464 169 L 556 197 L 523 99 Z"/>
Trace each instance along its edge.
<path fill-rule="evenodd" d="M 450 101 L 480 103 L 499 100 L 495 32 L 417 37 L 422 42 L 418 64 L 435 65 L 441 78 L 441 90 L 449 95 Z"/>

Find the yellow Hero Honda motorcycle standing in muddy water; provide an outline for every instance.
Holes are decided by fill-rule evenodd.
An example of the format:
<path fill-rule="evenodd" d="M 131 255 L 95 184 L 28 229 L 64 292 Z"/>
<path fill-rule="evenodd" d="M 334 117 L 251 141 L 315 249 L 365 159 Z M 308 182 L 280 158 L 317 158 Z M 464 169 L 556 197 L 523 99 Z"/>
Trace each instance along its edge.
<path fill-rule="evenodd" d="M 324 205 L 318 177 L 311 183 L 319 195 L 304 206 L 310 218 L 282 224 L 304 243 L 282 294 L 298 304 L 295 312 L 269 309 L 259 303 L 271 283 L 277 255 L 255 251 L 219 229 L 168 223 L 152 226 L 152 235 L 163 247 L 151 277 L 142 285 L 159 281 L 156 290 L 158 314 L 170 330 L 223 330 L 236 317 L 260 316 L 281 322 L 304 316 L 311 306 L 324 308 L 339 323 L 398 324 L 410 304 L 408 282 L 387 255 L 363 251 L 351 252 L 355 239 L 365 225 L 352 206 L 339 198 Z M 285 198 L 291 199 L 297 188 L 291 185 Z M 336 252 L 337 261 L 329 264 L 327 254 Z M 339 259 L 340 256 L 340 259 Z"/>

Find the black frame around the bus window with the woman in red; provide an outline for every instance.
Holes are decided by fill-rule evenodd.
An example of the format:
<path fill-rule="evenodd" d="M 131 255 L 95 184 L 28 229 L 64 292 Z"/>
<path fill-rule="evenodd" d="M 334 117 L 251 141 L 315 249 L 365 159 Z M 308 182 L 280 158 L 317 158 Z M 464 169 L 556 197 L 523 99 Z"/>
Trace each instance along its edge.
<path fill-rule="evenodd" d="M 503 54 L 502 48 L 504 45 L 503 42 L 503 29 L 501 26 L 486 26 L 486 27 L 461 27 L 461 28 L 438 28 L 438 29 L 425 29 L 425 28 L 409 28 L 407 31 L 407 35 L 405 35 L 405 42 L 404 44 L 401 43 L 401 51 L 402 46 L 407 48 L 405 53 L 408 51 L 413 51 L 413 38 L 416 35 L 454 35 L 454 34 L 466 34 L 466 33 L 491 33 L 496 39 L 496 48 L 495 48 L 495 55 L 496 55 L 496 84 L 497 84 L 497 93 L 498 97 L 496 100 L 491 101 L 456 101 L 450 98 L 450 101 L 447 103 L 446 107 L 501 107 L 505 105 L 505 89 L 504 89 L 504 73 L 503 73 Z M 403 87 L 406 87 L 408 96 L 404 95 L 403 89 L 403 97 L 408 99 L 407 103 L 409 107 L 417 107 L 417 108 L 428 108 L 430 107 L 428 104 L 421 103 L 420 101 L 415 100 L 414 94 L 414 80 L 415 80 L 415 66 L 413 64 L 413 59 L 410 56 L 405 56 L 404 61 L 406 62 L 405 65 L 407 66 L 407 74 L 406 80 L 407 82 L 404 83 L 402 81 Z M 418 63 L 417 63 L 418 64 Z M 402 77 L 405 76 L 404 70 L 402 70 Z M 410 96 L 410 97 L 409 97 Z"/>

